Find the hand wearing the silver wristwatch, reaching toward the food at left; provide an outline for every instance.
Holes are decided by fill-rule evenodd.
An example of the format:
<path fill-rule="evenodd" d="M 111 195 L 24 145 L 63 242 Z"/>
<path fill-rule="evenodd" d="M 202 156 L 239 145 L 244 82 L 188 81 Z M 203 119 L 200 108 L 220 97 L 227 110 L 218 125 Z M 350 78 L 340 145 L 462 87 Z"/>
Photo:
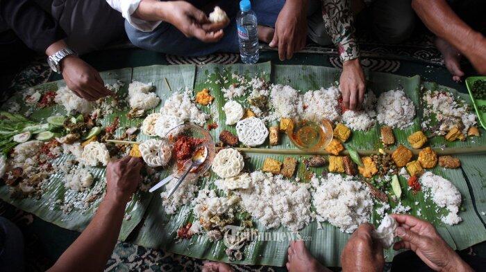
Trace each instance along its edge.
<path fill-rule="evenodd" d="M 69 55 L 61 62 L 62 78 L 80 98 L 94 101 L 114 93 L 105 87 L 98 71 L 79 57 Z"/>

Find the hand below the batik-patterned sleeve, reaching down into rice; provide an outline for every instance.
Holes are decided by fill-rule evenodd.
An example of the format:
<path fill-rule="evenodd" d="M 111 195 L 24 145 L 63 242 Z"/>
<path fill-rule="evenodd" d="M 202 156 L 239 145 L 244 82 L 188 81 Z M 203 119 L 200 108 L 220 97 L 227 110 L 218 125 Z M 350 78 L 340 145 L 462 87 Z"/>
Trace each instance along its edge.
<path fill-rule="evenodd" d="M 344 62 L 340 78 L 343 106 L 353 111 L 360 109 L 364 100 L 365 89 L 366 82 L 364 81 L 360 60 L 354 59 Z"/>

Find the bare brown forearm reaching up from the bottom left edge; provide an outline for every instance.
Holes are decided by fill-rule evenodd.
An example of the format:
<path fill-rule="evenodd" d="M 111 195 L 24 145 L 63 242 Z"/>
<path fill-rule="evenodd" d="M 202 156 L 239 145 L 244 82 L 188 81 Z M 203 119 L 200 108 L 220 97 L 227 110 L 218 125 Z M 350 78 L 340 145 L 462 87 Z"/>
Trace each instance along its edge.
<path fill-rule="evenodd" d="M 102 271 L 117 242 L 125 206 L 107 194 L 87 228 L 49 271 Z"/>

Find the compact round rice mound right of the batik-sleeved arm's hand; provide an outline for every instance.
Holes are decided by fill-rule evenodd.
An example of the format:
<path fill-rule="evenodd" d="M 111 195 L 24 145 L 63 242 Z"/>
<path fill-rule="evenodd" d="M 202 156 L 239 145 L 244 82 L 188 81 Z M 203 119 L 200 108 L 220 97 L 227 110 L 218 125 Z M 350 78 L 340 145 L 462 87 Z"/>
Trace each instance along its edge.
<path fill-rule="evenodd" d="M 392 128 L 405 129 L 413 124 L 415 107 L 402 90 L 382 93 L 376 104 L 378 122 Z"/>

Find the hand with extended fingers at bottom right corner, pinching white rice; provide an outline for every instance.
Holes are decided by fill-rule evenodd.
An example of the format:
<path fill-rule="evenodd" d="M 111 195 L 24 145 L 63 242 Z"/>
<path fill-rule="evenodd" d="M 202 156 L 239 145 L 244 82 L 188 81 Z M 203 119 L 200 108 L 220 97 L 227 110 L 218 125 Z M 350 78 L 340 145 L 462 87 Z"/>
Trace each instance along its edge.
<path fill-rule="evenodd" d="M 440 237 L 432 224 L 411 215 L 391 215 L 399 224 L 396 235 L 402 240 L 393 246 L 407 248 L 435 271 L 473 271 Z"/>

